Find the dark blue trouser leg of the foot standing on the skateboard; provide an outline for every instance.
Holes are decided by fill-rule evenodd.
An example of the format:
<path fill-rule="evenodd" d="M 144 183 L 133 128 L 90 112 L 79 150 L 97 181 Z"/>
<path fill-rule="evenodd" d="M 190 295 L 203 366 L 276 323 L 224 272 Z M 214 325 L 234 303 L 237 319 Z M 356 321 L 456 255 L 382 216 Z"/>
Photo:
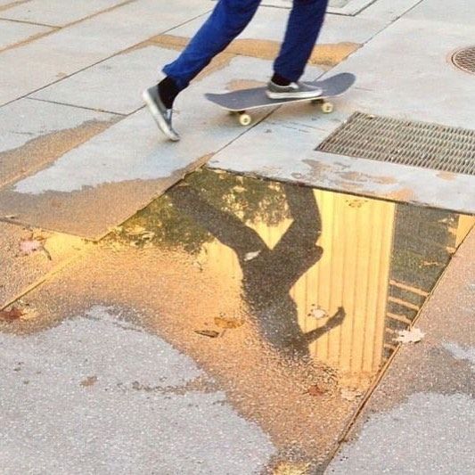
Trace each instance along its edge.
<path fill-rule="evenodd" d="M 293 0 L 291 16 L 274 71 L 290 81 L 298 81 L 312 54 L 322 29 L 328 0 Z"/>

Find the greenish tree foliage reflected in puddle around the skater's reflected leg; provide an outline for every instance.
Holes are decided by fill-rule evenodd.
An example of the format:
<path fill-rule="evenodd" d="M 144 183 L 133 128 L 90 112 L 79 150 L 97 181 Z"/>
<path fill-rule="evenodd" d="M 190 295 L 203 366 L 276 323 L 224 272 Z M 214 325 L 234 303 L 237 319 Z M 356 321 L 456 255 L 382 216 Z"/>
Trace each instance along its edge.
<path fill-rule="evenodd" d="M 203 169 L 188 176 L 183 185 L 206 192 L 209 204 L 238 215 L 244 222 L 275 225 L 288 217 L 285 195 L 279 184 Z M 204 242 L 214 239 L 206 229 L 196 225 L 192 217 L 180 213 L 168 194 L 153 201 L 125 227 L 134 225 L 152 229 L 155 242 L 180 246 L 191 253 L 199 252 Z"/>

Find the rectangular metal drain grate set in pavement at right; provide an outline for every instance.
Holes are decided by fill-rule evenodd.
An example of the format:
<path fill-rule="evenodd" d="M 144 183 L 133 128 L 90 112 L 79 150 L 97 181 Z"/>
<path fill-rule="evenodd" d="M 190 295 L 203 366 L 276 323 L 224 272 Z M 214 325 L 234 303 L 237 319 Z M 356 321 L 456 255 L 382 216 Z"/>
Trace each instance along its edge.
<path fill-rule="evenodd" d="M 475 131 L 354 113 L 320 152 L 475 176 Z"/>

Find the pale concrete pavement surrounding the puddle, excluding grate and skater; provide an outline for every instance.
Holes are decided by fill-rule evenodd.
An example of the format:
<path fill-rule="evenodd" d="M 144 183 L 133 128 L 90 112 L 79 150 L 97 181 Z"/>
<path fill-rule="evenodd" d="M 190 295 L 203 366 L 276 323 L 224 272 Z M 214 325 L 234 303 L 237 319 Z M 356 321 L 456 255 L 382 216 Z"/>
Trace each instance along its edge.
<path fill-rule="evenodd" d="M 145 273 L 156 265 L 164 274 L 168 266 L 192 274 L 201 264 L 187 267 L 169 256 L 147 260 L 134 251 L 114 260 L 106 253 L 109 280 L 102 280 L 102 269 L 94 267 L 94 242 L 102 244 L 104 236 L 117 233 L 117 226 L 204 165 L 356 194 L 355 202 L 347 200 L 355 209 L 382 198 L 475 214 L 473 175 L 315 150 L 355 111 L 454 127 L 469 136 L 475 130 L 475 76 L 455 68 L 450 58 L 473 43 L 475 4 L 455 0 L 447 14 L 443 0 L 331 0 L 306 78 L 351 71 L 358 78 L 356 87 L 334 101 L 332 115 L 308 112 L 306 105 L 296 104 L 257 111 L 255 125 L 245 129 L 203 94 L 266 82 L 291 1 L 263 1 L 249 28 L 180 96 L 176 127 L 184 140 L 168 143 L 143 109 L 141 91 L 157 80 L 161 65 L 176 57 L 214 2 L 75 0 L 67 8 L 64 3 L 0 0 L 0 262 L 4 265 L 0 309 L 12 303 L 21 306 L 26 299 L 42 315 L 36 321 L 32 314 L 30 320 L 13 326 L 0 322 L 6 352 L 0 358 L 5 381 L 0 390 L 2 399 L 12 405 L 2 407 L 7 423 L 0 451 L 6 473 L 51 472 L 58 454 L 57 473 L 175 473 L 176 460 L 188 455 L 189 464 L 181 465 L 181 473 L 268 471 L 271 461 L 282 456 L 277 448 L 282 440 L 272 423 L 269 429 L 260 422 L 264 416 L 250 402 L 258 397 L 249 396 L 258 378 L 250 379 L 249 394 L 236 399 L 233 390 L 239 389 L 239 376 L 233 380 L 226 375 L 229 386 L 217 383 L 212 371 L 203 369 L 206 364 L 214 368 L 210 362 L 217 355 L 210 354 L 209 362 L 199 364 L 203 343 L 195 348 L 175 333 L 186 329 L 177 325 L 174 330 L 170 315 L 185 315 L 193 297 L 188 296 L 188 307 L 181 307 L 183 302 L 175 301 L 179 298 L 167 295 L 163 299 L 178 306 L 173 311 L 160 299 L 141 307 L 152 299 L 152 292 L 145 289 L 142 294 L 127 285 L 129 275 L 141 282 L 137 262 Z M 236 185 L 237 195 L 241 188 Z M 39 251 L 21 251 L 25 242 Z M 473 471 L 473 249 L 471 233 L 424 307 L 418 324 L 425 339 L 401 348 L 330 472 Z M 119 277 L 115 286 L 118 269 L 127 277 Z M 161 288 L 160 276 L 149 277 L 151 288 Z M 206 293 L 202 272 L 195 278 L 197 288 Z M 223 283 L 216 278 L 214 285 L 220 288 Z M 167 285 L 163 289 L 169 291 Z M 207 302 L 216 299 L 206 296 Z M 110 307 L 111 302 L 119 302 L 118 307 Z M 204 304 L 200 308 L 207 312 Z M 160 315 L 154 313 L 157 309 L 165 314 L 155 320 Z M 139 314 L 143 320 L 137 326 Z M 195 316 L 199 321 L 200 315 Z M 125 328 L 120 322 L 127 319 L 135 323 Z M 127 343 L 129 336 L 142 348 Z M 102 338 L 107 345 L 102 346 Z M 118 348 L 121 355 L 113 361 Z M 225 364 L 225 348 L 221 349 L 219 364 Z M 25 364 L 23 369 L 19 361 Z M 225 374 L 223 368 L 217 373 Z M 61 401 L 56 419 L 49 403 L 37 400 L 55 384 L 48 380 L 52 375 L 60 388 L 50 394 L 52 400 Z M 279 391 L 292 381 L 295 387 L 286 389 L 293 395 L 289 400 L 300 404 L 301 391 L 292 391 L 304 384 L 302 375 L 296 371 L 280 376 Z M 111 397 L 105 397 L 109 390 Z M 284 391 L 278 394 L 285 398 Z M 22 402 L 15 405 L 19 395 Z M 70 402 L 78 414 L 70 412 Z M 269 414 L 274 414 L 269 419 L 279 419 L 273 411 L 280 402 L 269 402 Z M 348 411 L 359 402 L 340 400 Z M 154 413 L 157 410 L 159 414 Z M 317 414 L 314 410 L 306 409 L 308 421 Z M 339 423 L 346 421 L 349 413 L 338 413 L 336 406 L 334 411 Z M 153 417 L 165 421 L 163 427 Z M 304 436 L 299 418 L 291 421 L 300 443 Z M 42 433 L 50 423 L 53 433 Z M 79 437 L 81 424 L 85 431 Z M 99 443 L 85 462 L 91 454 L 84 445 L 107 438 L 110 427 L 123 437 L 108 439 L 107 447 Z M 188 437 L 190 427 L 193 433 Z M 14 455 L 31 428 L 36 428 L 38 440 L 47 443 L 36 448 L 27 443 L 28 456 Z M 312 437 L 323 439 L 324 430 L 316 427 Z M 307 446 L 311 442 L 309 437 Z M 69 451 L 78 458 L 68 459 Z M 154 471 L 157 452 L 162 454 L 161 471 Z M 452 458 L 446 462 L 442 454 Z M 323 466 L 321 461 L 285 463 L 275 473 L 288 469 L 304 474 Z M 443 463 L 450 463 L 450 471 Z"/>

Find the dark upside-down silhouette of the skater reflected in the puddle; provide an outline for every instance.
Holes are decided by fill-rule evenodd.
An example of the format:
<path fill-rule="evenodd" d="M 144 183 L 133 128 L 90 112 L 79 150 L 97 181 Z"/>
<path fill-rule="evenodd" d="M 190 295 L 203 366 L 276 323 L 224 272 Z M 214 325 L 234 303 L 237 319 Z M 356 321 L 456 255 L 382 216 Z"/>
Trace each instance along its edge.
<path fill-rule="evenodd" d="M 176 187 L 168 192 L 168 197 L 176 209 L 235 251 L 242 267 L 243 296 L 263 337 L 274 348 L 307 356 L 308 345 L 338 326 L 345 312 L 340 308 L 323 327 L 302 332 L 290 291 L 322 257 L 322 248 L 315 244 L 322 231 L 321 217 L 311 189 L 286 185 L 284 191 L 293 221 L 272 250 L 242 219 L 227 212 L 228 203 L 210 203 L 208 189 L 207 200 L 192 186 Z M 257 252 L 255 258 L 249 258 L 250 253 Z"/>

